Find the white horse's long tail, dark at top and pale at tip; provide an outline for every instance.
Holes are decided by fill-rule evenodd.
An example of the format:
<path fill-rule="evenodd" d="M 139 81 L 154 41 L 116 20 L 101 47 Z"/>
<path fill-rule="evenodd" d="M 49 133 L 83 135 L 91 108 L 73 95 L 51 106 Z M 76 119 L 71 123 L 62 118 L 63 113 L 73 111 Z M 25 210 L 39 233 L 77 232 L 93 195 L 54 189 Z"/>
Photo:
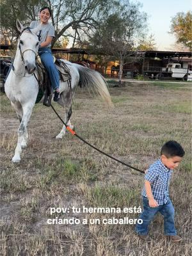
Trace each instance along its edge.
<path fill-rule="evenodd" d="M 83 67 L 78 64 L 74 64 L 79 72 L 79 84 L 80 86 L 86 86 L 93 92 L 96 92 L 102 97 L 102 99 L 108 103 L 108 106 L 113 106 L 111 102 L 111 96 L 108 91 L 108 84 L 104 80 L 99 72 L 90 68 Z"/>

